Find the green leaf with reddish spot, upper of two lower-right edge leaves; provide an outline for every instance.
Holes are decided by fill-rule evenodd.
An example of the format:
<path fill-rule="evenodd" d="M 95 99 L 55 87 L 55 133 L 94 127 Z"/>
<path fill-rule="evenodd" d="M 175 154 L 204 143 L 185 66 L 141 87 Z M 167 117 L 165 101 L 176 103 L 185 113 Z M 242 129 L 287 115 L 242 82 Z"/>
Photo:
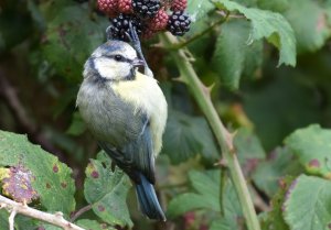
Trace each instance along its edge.
<path fill-rule="evenodd" d="M 319 124 L 299 129 L 286 140 L 308 173 L 331 179 L 331 130 Z"/>

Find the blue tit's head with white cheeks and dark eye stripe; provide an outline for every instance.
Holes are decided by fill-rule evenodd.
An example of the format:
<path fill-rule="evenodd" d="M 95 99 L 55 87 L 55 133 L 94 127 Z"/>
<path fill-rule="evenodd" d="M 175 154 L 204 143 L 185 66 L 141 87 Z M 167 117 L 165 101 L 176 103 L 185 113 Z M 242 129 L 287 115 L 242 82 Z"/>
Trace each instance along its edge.
<path fill-rule="evenodd" d="M 137 52 L 126 42 L 108 41 L 96 48 L 84 66 L 84 77 L 97 75 L 106 80 L 131 80 L 135 69 L 143 66 Z"/>

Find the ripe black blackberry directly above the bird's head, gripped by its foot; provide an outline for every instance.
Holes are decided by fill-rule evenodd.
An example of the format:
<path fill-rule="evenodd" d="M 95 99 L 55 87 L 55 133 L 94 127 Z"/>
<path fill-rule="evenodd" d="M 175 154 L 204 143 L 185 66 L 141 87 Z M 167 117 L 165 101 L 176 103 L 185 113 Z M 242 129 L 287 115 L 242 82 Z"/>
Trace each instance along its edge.
<path fill-rule="evenodd" d="M 110 19 L 111 26 L 109 32 L 111 39 L 128 42 L 126 33 L 130 32 L 130 21 L 134 28 L 136 29 L 137 34 L 140 35 L 141 31 L 143 30 L 143 23 L 141 22 L 141 20 L 132 14 L 120 13 L 117 18 Z"/>

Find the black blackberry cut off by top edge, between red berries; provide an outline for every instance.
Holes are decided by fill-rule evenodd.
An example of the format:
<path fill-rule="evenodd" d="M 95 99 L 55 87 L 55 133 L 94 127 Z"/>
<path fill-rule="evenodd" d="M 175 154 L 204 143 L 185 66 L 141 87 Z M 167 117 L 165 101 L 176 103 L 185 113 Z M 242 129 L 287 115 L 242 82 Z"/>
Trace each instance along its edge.
<path fill-rule="evenodd" d="M 132 0 L 134 11 L 142 19 L 153 18 L 160 7 L 160 0 Z"/>

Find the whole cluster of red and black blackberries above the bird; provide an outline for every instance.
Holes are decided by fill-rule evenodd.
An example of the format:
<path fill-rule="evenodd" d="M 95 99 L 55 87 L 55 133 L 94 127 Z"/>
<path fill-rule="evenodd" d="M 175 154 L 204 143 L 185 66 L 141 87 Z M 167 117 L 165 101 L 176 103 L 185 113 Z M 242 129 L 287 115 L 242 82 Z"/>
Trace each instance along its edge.
<path fill-rule="evenodd" d="M 184 13 L 188 0 L 97 0 L 98 9 L 110 18 L 113 39 L 128 41 L 129 21 L 143 39 L 168 30 L 182 36 L 190 30 L 191 20 Z"/>

